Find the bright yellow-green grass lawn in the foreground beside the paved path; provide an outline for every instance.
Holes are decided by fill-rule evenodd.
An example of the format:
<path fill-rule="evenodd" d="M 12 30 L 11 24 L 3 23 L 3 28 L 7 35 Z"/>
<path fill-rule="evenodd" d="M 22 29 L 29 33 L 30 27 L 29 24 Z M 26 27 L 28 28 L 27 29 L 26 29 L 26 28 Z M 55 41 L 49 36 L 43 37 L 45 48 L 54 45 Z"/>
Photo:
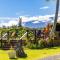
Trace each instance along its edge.
<path fill-rule="evenodd" d="M 0 50 L 0 60 L 9 60 L 8 51 Z M 41 50 L 25 49 L 27 58 L 18 58 L 17 60 L 37 60 L 51 55 L 60 54 L 60 47 L 45 48 Z"/>

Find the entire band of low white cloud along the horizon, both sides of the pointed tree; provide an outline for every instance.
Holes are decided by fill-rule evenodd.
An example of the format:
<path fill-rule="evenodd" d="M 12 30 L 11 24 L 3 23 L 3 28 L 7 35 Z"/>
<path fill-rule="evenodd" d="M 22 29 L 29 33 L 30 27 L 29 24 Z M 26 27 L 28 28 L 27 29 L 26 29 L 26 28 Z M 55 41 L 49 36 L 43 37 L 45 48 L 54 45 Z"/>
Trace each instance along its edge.
<path fill-rule="evenodd" d="M 39 23 L 39 21 L 45 22 L 45 21 L 50 21 L 50 17 L 54 17 L 55 14 L 52 15 L 44 15 L 44 16 L 20 16 L 22 18 L 22 22 L 28 22 L 28 21 L 35 21 L 33 23 Z M 2 22 L 1 22 L 2 21 Z M 6 22 L 8 21 L 8 22 Z M 12 26 L 12 25 L 17 25 L 19 21 L 19 18 L 11 18 L 11 17 L 0 17 L 0 27 L 5 25 L 5 26 Z M 58 22 L 60 22 L 60 14 L 58 18 Z M 22 24 L 24 25 L 24 24 Z"/>

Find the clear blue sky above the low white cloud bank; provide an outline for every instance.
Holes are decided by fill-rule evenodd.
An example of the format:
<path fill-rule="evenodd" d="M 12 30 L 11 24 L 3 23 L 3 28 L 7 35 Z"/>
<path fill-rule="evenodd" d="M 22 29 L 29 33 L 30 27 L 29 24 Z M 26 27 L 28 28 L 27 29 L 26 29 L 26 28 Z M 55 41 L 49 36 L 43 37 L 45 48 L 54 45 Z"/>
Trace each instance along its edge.
<path fill-rule="evenodd" d="M 42 7 L 48 7 L 40 9 Z M 0 0 L 1 17 L 18 17 L 20 15 L 45 15 L 55 12 L 55 1 L 46 0 Z"/>

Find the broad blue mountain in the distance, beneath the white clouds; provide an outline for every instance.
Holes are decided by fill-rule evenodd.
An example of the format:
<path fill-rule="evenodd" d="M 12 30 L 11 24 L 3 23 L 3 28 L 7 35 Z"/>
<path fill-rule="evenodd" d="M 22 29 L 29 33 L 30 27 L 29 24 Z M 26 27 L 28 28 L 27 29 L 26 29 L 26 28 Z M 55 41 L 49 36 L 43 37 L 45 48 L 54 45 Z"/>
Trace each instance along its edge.
<path fill-rule="evenodd" d="M 29 27 L 29 28 L 43 28 L 43 27 L 46 27 L 49 22 L 50 21 L 33 20 L 29 22 L 24 22 L 22 26 Z"/>

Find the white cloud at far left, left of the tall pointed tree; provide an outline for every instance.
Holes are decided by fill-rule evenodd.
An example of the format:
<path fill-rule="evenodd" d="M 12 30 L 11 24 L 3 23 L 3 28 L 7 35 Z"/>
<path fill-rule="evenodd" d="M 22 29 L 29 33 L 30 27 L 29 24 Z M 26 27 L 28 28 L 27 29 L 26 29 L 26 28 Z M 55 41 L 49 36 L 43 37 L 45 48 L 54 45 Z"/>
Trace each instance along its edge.
<path fill-rule="evenodd" d="M 18 24 L 18 18 L 11 17 L 0 17 L 0 27 L 2 26 L 12 26 Z M 7 22 L 8 21 L 8 22 Z"/>

